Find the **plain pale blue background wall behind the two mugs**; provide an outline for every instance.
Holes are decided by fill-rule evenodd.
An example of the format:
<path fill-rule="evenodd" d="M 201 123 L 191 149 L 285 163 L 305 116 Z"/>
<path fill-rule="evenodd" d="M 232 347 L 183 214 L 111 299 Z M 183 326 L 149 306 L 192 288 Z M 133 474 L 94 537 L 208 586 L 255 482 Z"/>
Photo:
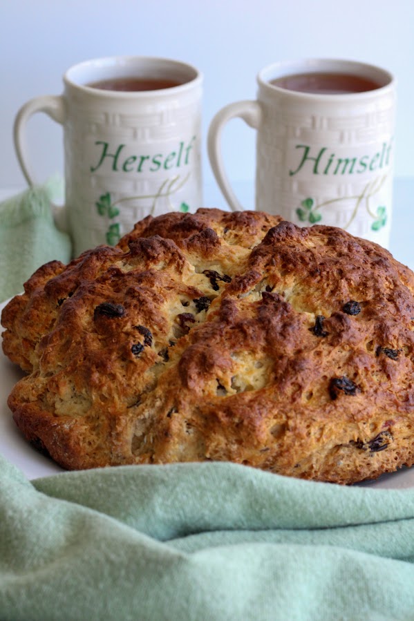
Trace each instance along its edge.
<path fill-rule="evenodd" d="M 398 81 L 395 175 L 414 177 L 411 0 L 0 0 L 0 10 L 0 188 L 24 185 L 12 144 L 21 104 L 61 93 L 62 73 L 78 61 L 123 54 L 172 57 L 204 73 L 203 166 L 210 185 L 209 122 L 225 104 L 255 97 L 263 66 L 301 57 L 384 66 Z M 39 181 L 62 173 L 60 126 L 37 115 L 28 130 Z M 254 178 L 254 140 L 241 120 L 227 126 L 223 148 L 233 182 Z"/>

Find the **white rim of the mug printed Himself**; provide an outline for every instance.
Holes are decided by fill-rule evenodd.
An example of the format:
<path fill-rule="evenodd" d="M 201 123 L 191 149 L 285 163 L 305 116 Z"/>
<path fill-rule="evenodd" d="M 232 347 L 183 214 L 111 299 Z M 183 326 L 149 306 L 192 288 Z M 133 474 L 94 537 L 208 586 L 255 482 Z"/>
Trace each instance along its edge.
<path fill-rule="evenodd" d="M 372 90 L 364 90 L 359 93 L 305 93 L 300 90 L 282 88 L 276 84 L 270 84 L 271 79 L 291 75 L 292 73 L 328 73 L 338 71 L 340 73 L 353 73 L 370 79 L 381 79 L 384 84 Z M 386 68 L 366 63 L 364 61 L 342 58 L 302 58 L 297 60 L 284 60 L 272 63 L 262 68 L 257 74 L 258 86 L 267 93 L 279 93 L 285 97 L 298 99 L 313 99 L 319 101 L 349 101 L 350 99 L 364 99 L 376 97 L 395 86 L 395 76 Z"/>

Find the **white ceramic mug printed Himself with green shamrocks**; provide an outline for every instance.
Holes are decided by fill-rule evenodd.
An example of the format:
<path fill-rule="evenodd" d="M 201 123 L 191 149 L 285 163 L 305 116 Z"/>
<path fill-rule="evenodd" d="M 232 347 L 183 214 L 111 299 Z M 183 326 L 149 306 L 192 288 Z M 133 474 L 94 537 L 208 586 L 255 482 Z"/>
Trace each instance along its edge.
<path fill-rule="evenodd" d="M 310 73 L 357 76 L 375 88 L 332 94 L 281 86 L 281 78 Z M 257 81 L 257 101 L 225 106 L 209 127 L 211 168 L 231 209 L 243 207 L 225 175 L 220 136 L 230 119 L 241 117 L 257 130 L 256 209 L 302 226 L 342 227 L 387 247 L 395 116 L 391 73 L 357 61 L 306 59 L 264 68 Z"/>

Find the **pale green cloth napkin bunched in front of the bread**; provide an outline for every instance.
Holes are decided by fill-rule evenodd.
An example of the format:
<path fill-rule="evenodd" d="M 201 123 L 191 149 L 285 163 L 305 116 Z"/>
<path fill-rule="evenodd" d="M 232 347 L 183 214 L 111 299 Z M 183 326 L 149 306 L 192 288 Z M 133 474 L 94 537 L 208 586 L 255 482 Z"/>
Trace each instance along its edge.
<path fill-rule="evenodd" d="M 3 621 L 412 620 L 413 561 L 414 489 L 0 457 Z"/>

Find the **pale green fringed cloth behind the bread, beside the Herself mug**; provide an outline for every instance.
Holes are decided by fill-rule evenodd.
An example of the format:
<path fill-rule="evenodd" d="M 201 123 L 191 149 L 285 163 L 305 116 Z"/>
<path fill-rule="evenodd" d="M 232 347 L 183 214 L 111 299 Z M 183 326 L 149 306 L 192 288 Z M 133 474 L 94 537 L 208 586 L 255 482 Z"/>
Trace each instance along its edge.
<path fill-rule="evenodd" d="M 0 203 L 0 302 L 23 291 L 23 283 L 44 263 L 70 260 L 70 238 L 53 221 L 54 192 L 51 180 Z"/>

